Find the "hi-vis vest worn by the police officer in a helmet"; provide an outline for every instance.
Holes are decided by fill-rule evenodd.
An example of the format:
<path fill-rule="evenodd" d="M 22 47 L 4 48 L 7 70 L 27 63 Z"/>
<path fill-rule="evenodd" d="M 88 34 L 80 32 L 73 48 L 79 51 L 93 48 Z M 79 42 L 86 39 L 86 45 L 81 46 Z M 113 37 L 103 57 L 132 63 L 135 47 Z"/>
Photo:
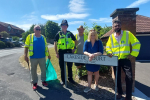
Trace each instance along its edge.
<path fill-rule="evenodd" d="M 62 32 L 59 32 L 59 40 L 57 42 L 57 48 L 61 50 L 72 49 L 74 47 L 73 40 L 71 38 L 71 33 L 67 32 L 64 35 Z"/>

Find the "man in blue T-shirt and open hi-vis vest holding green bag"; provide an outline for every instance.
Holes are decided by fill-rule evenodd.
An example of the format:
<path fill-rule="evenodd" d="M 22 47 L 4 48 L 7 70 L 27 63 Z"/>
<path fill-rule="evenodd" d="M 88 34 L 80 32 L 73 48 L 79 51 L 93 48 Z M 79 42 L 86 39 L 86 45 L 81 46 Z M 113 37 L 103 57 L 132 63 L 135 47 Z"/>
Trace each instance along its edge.
<path fill-rule="evenodd" d="M 46 83 L 46 58 L 50 59 L 46 38 L 41 34 L 41 27 L 39 25 L 34 26 L 34 33 L 29 34 L 25 41 L 24 59 L 29 64 L 28 51 L 31 62 L 31 81 L 33 83 L 33 90 L 37 89 L 37 65 L 39 64 L 41 69 L 41 80 L 43 86 L 48 86 Z"/>

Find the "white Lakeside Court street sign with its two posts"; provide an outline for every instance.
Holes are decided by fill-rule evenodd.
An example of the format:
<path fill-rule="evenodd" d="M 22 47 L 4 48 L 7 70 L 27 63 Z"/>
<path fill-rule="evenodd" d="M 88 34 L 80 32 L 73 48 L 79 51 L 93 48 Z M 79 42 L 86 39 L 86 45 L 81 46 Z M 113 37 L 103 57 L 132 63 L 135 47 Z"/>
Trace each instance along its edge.
<path fill-rule="evenodd" d="M 75 63 L 84 63 L 84 64 L 96 64 L 96 65 L 108 65 L 116 67 L 116 76 L 115 76 L 115 100 L 117 93 L 117 73 L 118 73 L 118 57 L 108 57 L 106 55 L 101 55 L 94 57 L 92 61 L 89 61 L 87 55 L 82 54 L 64 54 L 64 74 L 65 74 L 65 85 L 67 87 L 67 75 L 66 75 L 66 62 L 75 62 Z"/>

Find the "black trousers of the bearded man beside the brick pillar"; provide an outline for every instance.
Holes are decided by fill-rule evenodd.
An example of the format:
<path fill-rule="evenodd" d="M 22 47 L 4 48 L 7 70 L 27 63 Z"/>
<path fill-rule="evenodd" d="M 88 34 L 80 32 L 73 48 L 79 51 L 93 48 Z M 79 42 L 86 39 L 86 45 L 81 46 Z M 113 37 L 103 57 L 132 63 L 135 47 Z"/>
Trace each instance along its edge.
<path fill-rule="evenodd" d="M 118 88 L 118 94 L 123 94 L 122 91 L 122 84 L 121 84 L 121 67 L 123 71 L 125 72 L 125 81 L 126 81 L 126 98 L 128 100 L 132 100 L 132 67 L 131 67 L 131 61 L 129 59 L 120 59 L 118 61 L 118 75 L 117 75 L 117 88 Z M 114 67 L 114 73 L 116 75 L 116 67 Z"/>

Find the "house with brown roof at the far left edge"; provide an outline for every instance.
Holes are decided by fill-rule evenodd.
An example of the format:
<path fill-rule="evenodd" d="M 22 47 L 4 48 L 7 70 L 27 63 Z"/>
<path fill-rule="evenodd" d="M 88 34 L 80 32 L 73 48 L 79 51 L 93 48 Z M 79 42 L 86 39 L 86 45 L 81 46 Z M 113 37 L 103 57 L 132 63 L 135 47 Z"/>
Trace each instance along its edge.
<path fill-rule="evenodd" d="M 0 22 L 0 32 L 2 31 L 6 31 L 7 33 L 10 34 L 10 36 L 18 36 L 18 37 L 22 37 L 21 34 L 25 32 L 23 29 L 17 26 Z"/>

